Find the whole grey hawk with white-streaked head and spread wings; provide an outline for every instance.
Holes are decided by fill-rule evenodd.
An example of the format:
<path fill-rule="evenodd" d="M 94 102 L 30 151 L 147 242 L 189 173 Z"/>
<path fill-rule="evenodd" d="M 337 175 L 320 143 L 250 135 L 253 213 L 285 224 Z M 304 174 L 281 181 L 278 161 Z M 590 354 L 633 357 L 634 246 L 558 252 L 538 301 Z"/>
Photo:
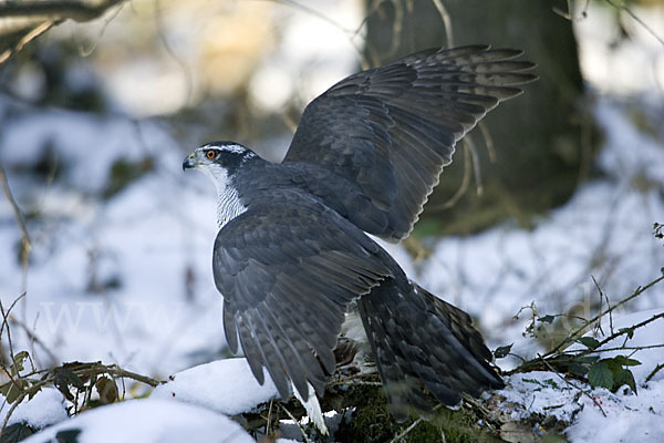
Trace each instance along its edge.
<path fill-rule="evenodd" d="M 366 234 L 408 236 L 455 144 L 536 79 L 520 54 L 428 50 L 351 75 L 307 106 L 281 164 L 234 142 L 185 159 L 217 186 L 226 339 L 261 384 L 264 367 L 282 398 L 292 383 L 317 401 L 344 321 L 359 313 L 396 420 L 430 411 L 426 391 L 453 406 L 504 387 L 470 317 L 411 281 Z"/>

